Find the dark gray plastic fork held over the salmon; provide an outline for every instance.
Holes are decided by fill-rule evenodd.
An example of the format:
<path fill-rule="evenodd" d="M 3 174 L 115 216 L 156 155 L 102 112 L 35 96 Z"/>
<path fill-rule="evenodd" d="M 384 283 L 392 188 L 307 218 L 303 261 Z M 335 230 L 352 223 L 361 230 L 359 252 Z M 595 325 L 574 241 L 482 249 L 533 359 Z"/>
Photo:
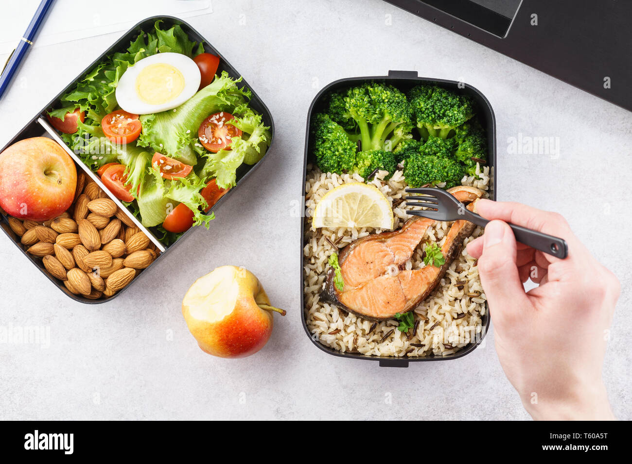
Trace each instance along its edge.
<path fill-rule="evenodd" d="M 465 208 L 465 205 L 445 190 L 427 187 L 406 189 L 406 193 L 421 193 L 427 196 L 408 196 L 406 206 L 425 206 L 428 210 L 412 210 L 408 214 L 433 219 L 435 221 L 456 221 L 464 219 L 485 227 L 489 220 Z M 414 201 L 409 201 L 414 200 Z M 537 230 L 526 229 L 520 225 L 509 224 L 516 240 L 522 244 L 564 259 L 568 256 L 566 241 L 553 235 L 543 234 Z"/>

